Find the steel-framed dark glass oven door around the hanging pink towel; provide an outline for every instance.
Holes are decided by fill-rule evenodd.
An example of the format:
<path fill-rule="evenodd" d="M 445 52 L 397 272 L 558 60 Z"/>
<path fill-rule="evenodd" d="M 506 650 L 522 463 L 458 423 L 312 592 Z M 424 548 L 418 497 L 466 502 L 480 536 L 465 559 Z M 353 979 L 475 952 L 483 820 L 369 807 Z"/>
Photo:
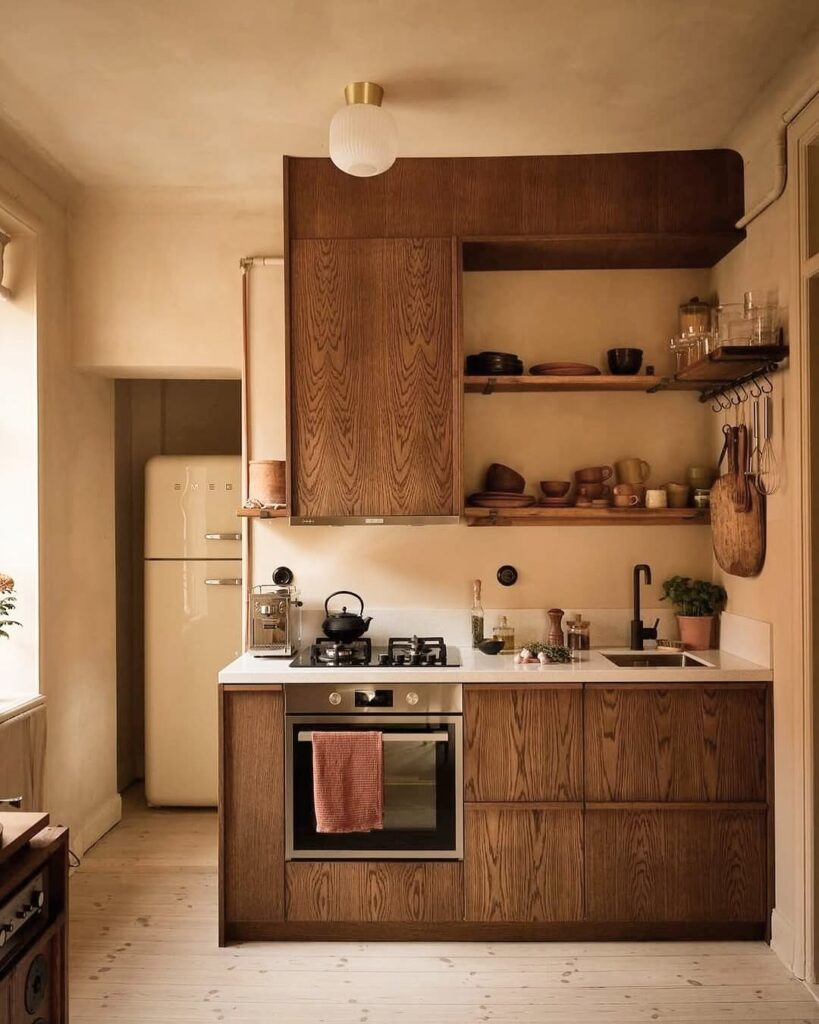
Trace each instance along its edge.
<path fill-rule="evenodd" d="M 456 726 L 290 725 L 293 767 L 293 850 L 441 851 L 456 848 Z M 384 739 L 384 828 L 319 834 L 313 805 L 312 743 L 299 734 L 318 729 L 377 729 Z M 425 738 L 426 736 L 429 738 Z M 406 736 L 405 739 L 402 736 Z"/>

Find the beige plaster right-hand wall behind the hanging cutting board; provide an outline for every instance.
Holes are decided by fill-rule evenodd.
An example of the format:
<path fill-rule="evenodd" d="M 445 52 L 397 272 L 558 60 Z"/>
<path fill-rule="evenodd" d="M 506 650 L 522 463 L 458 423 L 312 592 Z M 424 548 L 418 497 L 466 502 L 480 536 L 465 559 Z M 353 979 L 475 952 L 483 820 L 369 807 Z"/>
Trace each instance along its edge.
<path fill-rule="evenodd" d="M 746 160 L 746 208 L 774 183 L 774 140 L 781 114 L 819 75 L 819 44 L 814 37 L 799 57 L 747 111 L 727 144 Z M 798 245 L 792 220 L 791 168 L 786 195 L 748 227 L 745 243 L 715 268 L 713 283 L 721 301 L 741 301 L 744 291 L 776 296 L 785 322 L 792 322 L 794 258 Z M 791 344 L 798 344 L 794 332 Z M 776 454 L 783 469 L 782 487 L 768 502 L 768 553 L 762 573 L 750 580 L 727 577 L 730 610 L 773 624 L 774 727 L 776 772 L 776 909 L 773 944 L 786 964 L 805 976 L 805 863 L 801 824 L 805 763 L 801 743 L 805 709 L 800 672 L 802 636 L 794 628 L 794 573 L 800 558 L 800 460 L 798 436 L 800 380 L 785 370 L 775 378 Z M 716 420 L 717 418 L 715 418 Z M 722 437 L 715 423 L 714 443 Z M 715 571 L 722 575 L 718 566 Z"/>

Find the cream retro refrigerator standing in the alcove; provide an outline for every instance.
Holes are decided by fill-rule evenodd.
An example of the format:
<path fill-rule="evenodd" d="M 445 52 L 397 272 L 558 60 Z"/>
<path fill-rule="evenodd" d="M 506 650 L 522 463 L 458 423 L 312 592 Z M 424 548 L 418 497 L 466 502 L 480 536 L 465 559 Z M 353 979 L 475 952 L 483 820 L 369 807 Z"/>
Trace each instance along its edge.
<path fill-rule="evenodd" d="M 145 796 L 217 802 L 219 669 L 242 650 L 241 460 L 145 466 Z"/>

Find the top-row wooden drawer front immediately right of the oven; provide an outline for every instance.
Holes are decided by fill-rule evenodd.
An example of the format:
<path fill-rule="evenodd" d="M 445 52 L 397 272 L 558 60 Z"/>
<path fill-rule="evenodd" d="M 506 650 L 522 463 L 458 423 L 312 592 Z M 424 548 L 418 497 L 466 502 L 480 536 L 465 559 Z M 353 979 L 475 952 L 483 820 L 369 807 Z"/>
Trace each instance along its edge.
<path fill-rule="evenodd" d="M 466 799 L 581 800 L 581 723 L 579 688 L 467 688 Z"/>

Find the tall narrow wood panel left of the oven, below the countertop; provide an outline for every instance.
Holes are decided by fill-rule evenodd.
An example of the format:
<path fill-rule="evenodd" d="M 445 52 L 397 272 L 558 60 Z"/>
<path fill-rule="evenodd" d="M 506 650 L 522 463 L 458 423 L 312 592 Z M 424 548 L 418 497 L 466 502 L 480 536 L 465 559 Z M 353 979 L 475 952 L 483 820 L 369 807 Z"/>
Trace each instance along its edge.
<path fill-rule="evenodd" d="M 281 689 L 220 688 L 219 935 L 285 918 L 285 720 Z"/>

